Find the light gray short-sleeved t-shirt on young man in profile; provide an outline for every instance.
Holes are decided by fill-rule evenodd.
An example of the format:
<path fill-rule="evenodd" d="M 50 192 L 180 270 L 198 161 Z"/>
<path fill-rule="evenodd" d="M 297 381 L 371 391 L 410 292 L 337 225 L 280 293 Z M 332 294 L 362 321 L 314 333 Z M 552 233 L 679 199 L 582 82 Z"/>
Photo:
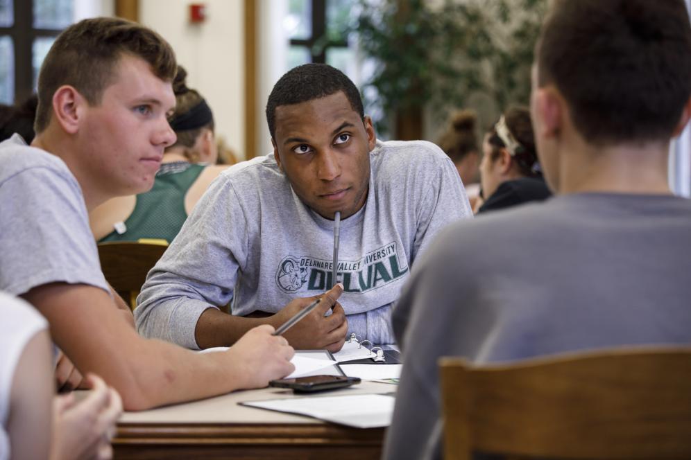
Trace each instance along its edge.
<path fill-rule="evenodd" d="M 81 188 L 62 159 L 15 134 L 0 143 L 0 290 L 47 283 L 109 292 Z"/>

